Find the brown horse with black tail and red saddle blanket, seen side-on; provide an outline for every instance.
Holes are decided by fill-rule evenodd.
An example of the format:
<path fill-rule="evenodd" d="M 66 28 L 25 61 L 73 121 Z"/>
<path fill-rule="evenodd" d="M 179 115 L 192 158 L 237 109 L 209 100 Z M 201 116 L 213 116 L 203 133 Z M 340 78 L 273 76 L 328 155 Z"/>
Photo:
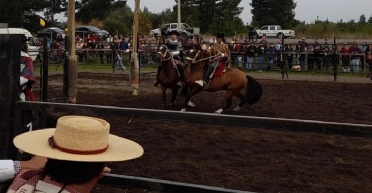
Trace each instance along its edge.
<path fill-rule="evenodd" d="M 190 101 L 190 98 L 200 91 L 203 91 L 203 88 L 198 87 L 194 81 L 202 79 L 206 65 L 218 59 L 218 56 L 213 55 L 207 49 L 201 50 L 200 48 L 193 48 L 189 50 L 188 57 L 186 58 L 185 71 L 186 84 L 189 87 L 189 92 L 181 111 L 186 111 L 187 105 L 195 107 L 195 104 Z M 246 88 L 245 95 L 241 92 L 244 88 Z M 234 111 L 241 110 L 244 104 L 250 105 L 258 102 L 262 96 L 261 85 L 252 77 L 236 68 L 230 68 L 229 71 L 224 72 L 221 76 L 213 77 L 209 84 L 209 88 L 205 91 L 216 92 L 221 90 L 226 91 L 226 103 L 223 108 L 215 111 L 215 113 L 218 114 L 232 105 L 234 96 L 239 97 L 241 100 L 239 106 L 234 108 Z"/>

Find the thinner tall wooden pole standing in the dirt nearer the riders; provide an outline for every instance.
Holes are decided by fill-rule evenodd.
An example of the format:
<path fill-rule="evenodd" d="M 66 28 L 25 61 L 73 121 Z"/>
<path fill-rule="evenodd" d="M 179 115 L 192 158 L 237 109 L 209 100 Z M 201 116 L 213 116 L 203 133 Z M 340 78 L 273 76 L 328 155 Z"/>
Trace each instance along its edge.
<path fill-rule="evenodd" d="M 138 20 L 139 20 L 139 1 L 134 0 L 134 22 L 133 22 L 133 50 L 130 61 L 130 85 L 132 87 L 132 95 L 138 95 L 139 87 L 139 59 L 137 53 L 137 34 L 138 34 Z"/>

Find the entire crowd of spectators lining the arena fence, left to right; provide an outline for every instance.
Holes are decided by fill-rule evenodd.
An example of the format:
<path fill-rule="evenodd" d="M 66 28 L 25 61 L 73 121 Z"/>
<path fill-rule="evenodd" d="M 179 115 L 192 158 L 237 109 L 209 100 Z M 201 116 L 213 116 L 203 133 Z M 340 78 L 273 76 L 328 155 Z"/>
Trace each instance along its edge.
<path fill-rule="evenodd" d="M 41 43 L 40 40 L 37 41 Z M 50 59 L 62 60 L 65 52 L 64 39 L 57 35 L 53 40 L 47 39 L 46 41 L 50 50 Z M 130 61 L 132 36 L 125 38 L 123 35 L 110 35 L 107 39 L 100 40 L 95 34 L 88 34 L 86 37 L 76 35 L 75 41 L 79 63 L 87 59 L 96 59 L 102 64 L 115 62 L 122 70 L 125 70 L 124 63 Z M 156 49 L 160 44 L 163 44 L 163 39 L 158 36 L 148 38 L 139 35 L 138 41 L 140 64 L 145 65 L 149 61 L 156 63 Z M 179 41 L 183 43 L 185 48 L 199 44 L 201 48 L 207 49 L 216 43 L 216 38 L 212 37 L 209 41 L 204 42 L 202 37 L 199 39 L 194 37 L 188 38 L 184 42 L 180 37 Z M 353 42 L 352 45 L 344 44 L 336 51 L 327 39 L 324 39 L 323 44 L 320 44 L 318 39 L 314 39 L 313 43 L 308 43 L 305 38 L 302 38 L 297 44 L 285 42 L 282 44 L 281 41 L 274 44 L 269 43 L 265 36 L 258 43 L 250 43 L 244 36 L 239 38 L 234 36 L 231 42 L 226 43 L 229 44 L 234 64 L 247 70 L 256 69 L 258 72 L 262 72 L 265 69 L 280 68 L 282 61 L 284 61 L 289 69 L 299 66 L 301 70 L 330 71 L 331 66 L 336 62 L 337 65 L 342 64 L 344 72 L 362 72 L 367 69 L 372 71 L 372 44 L 367 44 L 367 42 L 362 45 L 358 45 L 356 42 Z M 337 53 L 336 59 L 334 58 L 335 52 Z"/>

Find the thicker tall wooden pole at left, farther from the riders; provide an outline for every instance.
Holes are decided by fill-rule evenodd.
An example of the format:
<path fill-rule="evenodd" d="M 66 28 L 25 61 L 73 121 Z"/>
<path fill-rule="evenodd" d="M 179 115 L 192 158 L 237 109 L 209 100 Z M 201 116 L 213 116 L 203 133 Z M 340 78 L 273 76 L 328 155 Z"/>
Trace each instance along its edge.
<path fill-rule="evenodd" d="M 76 103 L 77 96 L 77 57 L 75 46 L 75 0 L 68 0 L 67 10 L 67 29 L 68 29 L 68 71 L 67 71 L 67 100 Z"/>

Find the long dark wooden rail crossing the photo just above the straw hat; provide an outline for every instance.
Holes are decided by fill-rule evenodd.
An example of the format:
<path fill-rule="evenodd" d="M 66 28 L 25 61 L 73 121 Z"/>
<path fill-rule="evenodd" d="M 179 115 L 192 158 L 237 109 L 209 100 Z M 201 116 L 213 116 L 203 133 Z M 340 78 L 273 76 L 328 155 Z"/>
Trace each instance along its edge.
<path fill-rule="evenodd" d="M 313 120 L 298 120 L 239 115 L 218 115 L 199 112 L 180 112 L 169 110 L 122 108 L 85 104 L 63 104 L 50 102 L 17 101 L 16 108 L 23 110 L 46 110 L 85 115 L 124 116 L 157 121 L 174 121 L 232 127 L 261 128 L 278 131 L 322 133 L 357 137 L 372 137 L 372 125 L 335 123 Z"/>

